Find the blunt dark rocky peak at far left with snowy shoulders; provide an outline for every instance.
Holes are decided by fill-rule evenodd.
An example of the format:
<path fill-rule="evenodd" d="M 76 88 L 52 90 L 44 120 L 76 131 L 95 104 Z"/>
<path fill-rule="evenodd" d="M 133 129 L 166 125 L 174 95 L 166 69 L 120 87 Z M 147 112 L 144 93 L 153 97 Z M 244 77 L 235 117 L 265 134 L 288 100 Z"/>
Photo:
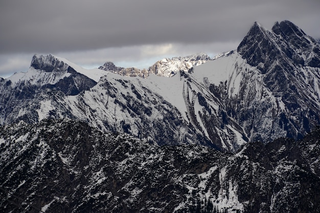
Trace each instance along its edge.
<path fill-rule="evenodd" d="M 60 90 L 64 94 L 75 95 L 83 90 L 87 90 L 97 84 L 97 78 L 82 74 L 86 72 L 80 66 L 54 55 L 37 55 L 32 57 L 28 72 L 15 73 L 6 81 L 10 82 L 13 90 L 28 90 L 36 93 L 44 88 Z M 97 73 L 97 72 L 96 72 Z M 95 79 L 95 80 L 94 80 Z"/>

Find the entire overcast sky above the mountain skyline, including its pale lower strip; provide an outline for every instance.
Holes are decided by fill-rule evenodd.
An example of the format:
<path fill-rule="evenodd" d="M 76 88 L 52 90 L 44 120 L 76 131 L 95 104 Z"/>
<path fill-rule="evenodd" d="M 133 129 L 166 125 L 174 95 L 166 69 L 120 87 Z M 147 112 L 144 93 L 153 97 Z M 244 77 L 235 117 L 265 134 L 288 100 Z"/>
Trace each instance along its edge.
<path fill-rule="evenodd" d="M 255 21 L 290 20 L 320 38 L 319 0 L 3 0 L 0 77 L 26 72 L 34 54 L 84 67 L 148 68 L 164 57 L 237 48 Z"/>

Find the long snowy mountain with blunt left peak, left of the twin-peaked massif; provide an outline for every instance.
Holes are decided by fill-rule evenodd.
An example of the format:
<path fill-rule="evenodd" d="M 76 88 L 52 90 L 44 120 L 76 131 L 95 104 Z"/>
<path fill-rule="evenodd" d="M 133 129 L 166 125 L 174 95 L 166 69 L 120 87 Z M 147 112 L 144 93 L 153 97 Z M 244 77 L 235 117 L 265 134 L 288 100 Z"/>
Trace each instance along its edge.
<path fill-rule="evenodd" d="M 36 60 L 38 58 L 41 60 Z M 38 61 L 41 66 L 37 65 Z M 54 68 L 53 64 L 56 63 L 63 67 Z M 82 76 L 84 82 L 88 79 L 91 82 L 96 82 L 100 77 L 101 79 L 97 84 L 83 88 L 80 93 L 67 93 L 64 90 L 70 88 L 71 84 L 66 87 L 60 85 L 66 85 L 64 82 L 67 78 L 74 78 L 70 70 L 77 70 L 75 73 Z M 61 72 L 61 77 L 55 72 Z M 41 79 L 44 74 L 50 76 L 46 78 L 49 80 L 34 80 Z M 188 75 L 181 70 L 172 78 L 155 75 L 148 79 L 128 78 L 101 69 L 85 70 L 52 55 L 35 56 L 27 73 L 15 74 L 2 80 L 4 102 L 1 122 L 9 124 L 24 120 L 36 123 L 45 118 L 68 117 L 80 119 L 106 132 L 130 133 L 158 145 L 202 144 L 217 149 L 235 150 L 245 143 L 241 139 L 241 133 L 229 126 L 225 131 L 219 132 L 223 140 L 212 142 L 209 131 L 216 130 L 214 126 L 209 127 L 210 130 L 204 127 L 205 121 L 197 115 L 197 111 L 203 106 L 194 106 L 194 101 L 202 97 L 196 91 L 200 91 L 199 88 L 203 85 L 197 85 L 196 81 L 190 84 Z M 17 76 L 19 80 L 15 81 Z M 41 86 L 33 82 L 38 82 Z M 73 87 L 78 85 L 81 84 L 72 84 Z M 211 96 L 208 88 L 203 89 Z M 219 108 L 213 100 L 208 101 Z M 218 118 L 215 120 L 218 126 L 222 125 Z M 228 131 L 235 133 L 230 136 Z M 239 135 L 241 140 L 237 139 Z"/>

